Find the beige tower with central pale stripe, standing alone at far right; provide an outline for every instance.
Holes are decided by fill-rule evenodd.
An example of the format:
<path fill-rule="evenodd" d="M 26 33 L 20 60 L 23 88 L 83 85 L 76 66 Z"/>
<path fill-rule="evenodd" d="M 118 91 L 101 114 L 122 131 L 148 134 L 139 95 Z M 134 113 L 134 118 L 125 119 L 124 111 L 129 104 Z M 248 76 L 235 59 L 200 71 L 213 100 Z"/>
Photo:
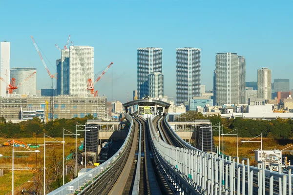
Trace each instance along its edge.
<path fill-rule="evenodd" d="M 272 98 L 272 70 L 268 68 L 257 70 L 257 98 Z"/>

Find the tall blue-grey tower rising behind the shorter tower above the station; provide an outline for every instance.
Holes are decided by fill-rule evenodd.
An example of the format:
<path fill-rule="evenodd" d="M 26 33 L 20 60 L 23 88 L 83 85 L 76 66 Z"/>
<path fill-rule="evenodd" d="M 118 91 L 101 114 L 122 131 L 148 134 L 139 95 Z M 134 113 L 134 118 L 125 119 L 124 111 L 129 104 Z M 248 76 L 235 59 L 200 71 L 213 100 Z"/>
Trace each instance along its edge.
<path fill-rule="evenodd" d="M 137 49 L 137 98 L 149 95 L 148 74 L 162 73 L 162 49 L 146 47 Z"/>

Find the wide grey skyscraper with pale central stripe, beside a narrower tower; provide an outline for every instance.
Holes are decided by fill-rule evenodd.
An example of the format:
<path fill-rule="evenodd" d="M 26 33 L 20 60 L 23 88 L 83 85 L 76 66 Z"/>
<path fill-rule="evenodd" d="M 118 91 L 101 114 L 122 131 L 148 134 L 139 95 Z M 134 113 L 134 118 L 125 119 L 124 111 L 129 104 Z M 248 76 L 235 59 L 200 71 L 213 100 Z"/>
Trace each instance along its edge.
<path fill-rule="evenodd" d="M 215 105 L 238 103 L 238 63 L 237 53 L 216 54 Z"/>

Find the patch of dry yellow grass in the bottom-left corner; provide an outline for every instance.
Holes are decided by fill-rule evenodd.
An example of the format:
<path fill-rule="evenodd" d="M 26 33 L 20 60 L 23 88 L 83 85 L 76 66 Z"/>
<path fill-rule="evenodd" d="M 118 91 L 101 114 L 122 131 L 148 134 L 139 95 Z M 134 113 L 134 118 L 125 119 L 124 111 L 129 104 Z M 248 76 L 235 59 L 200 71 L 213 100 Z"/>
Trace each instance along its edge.
<path fill-rule="evenodd" d="M 14 187 L 25 183 L 28 179 L 33 176 L 33 173 L 14 173 Z M 0 177 L 0 195 L 5 195 L 12 190 L 12 173 L 5 174 Z"/>

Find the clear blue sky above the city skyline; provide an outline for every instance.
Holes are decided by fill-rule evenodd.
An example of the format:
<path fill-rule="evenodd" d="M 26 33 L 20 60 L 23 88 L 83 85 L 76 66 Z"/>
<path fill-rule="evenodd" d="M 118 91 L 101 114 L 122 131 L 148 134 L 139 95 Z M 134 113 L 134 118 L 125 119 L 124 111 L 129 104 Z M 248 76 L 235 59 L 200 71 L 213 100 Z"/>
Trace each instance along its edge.
<path fill-rule="evenodd" d="M 246 58 L 246 80 L 257 69 L 272 69 L 272 79 L 290 78 L 293 88 L 293 1 L 264 0 L 0 0 L 0 40 L 11 42 L 11 67 L 37 68 L 37 88 L 49 88 L 33 42 L 49 70 L 68 36 L 95 52 L 95 73 L 113 66 L 95 85 L 109 100 L 126 101 L 136 89 L 137 48 L 163 48 L 165 95 L 176 97 L 176 48 L 202 49 L 201 82 L 212 89 L 215 53 Z M 53 65 L 51 66 L 50 63 Z M 112 88 L 113 74 L 113 88 Z M 56 84 L 56 80 L 54 81 Z M 112 97 L 113 89 L 113 97 Z"/>

